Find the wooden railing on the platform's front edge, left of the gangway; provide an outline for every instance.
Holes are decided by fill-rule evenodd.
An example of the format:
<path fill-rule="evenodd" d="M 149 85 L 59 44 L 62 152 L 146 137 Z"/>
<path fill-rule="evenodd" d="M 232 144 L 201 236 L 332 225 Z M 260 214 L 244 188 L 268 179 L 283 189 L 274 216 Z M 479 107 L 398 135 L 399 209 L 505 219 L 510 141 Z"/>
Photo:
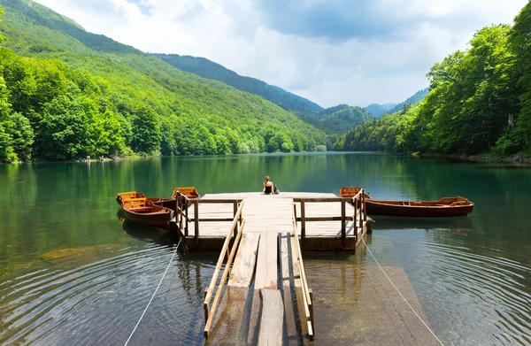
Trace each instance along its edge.
<path fill-rule="evenodd" d="M 242 204 L 242 199 L 189 199 L 187 196 L 177 192 L 177 205 L 175 208 L 176 222 L 179 225 L 181 232 L 184 231 L 184 236 L 189 237 L 189 223 L 194 224 L 194 237 L 196 244 L 199 243 L 199 223 L 200 222 L 219 222 L 219 221 L 233 221 L 238 211 L 238 206 Z M 233 217 L 232 218 L 199 218 L 199 204 L 233 204 Z M 189 207 L 194 206 L 194 217 L 189 218 Z M 239 223 L 242 224 L 242 213 L 239 214 Z M 184 226 L 183 226 L 184 222 Z M 234 236 L 238 232 L 238 224 L 234 228 Z"/>

